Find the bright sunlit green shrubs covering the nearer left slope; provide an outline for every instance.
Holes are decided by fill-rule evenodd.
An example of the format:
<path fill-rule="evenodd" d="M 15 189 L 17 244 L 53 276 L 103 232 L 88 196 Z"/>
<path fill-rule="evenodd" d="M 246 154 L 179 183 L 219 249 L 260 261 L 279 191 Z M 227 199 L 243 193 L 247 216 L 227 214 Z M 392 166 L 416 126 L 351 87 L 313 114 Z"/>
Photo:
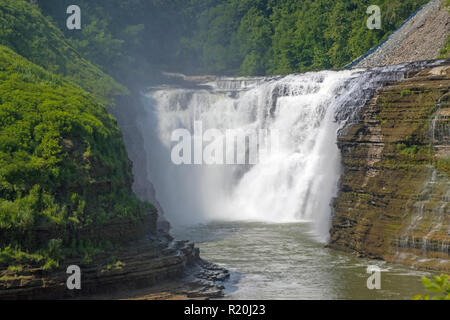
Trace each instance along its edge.
<path fill-rule="evenodd" d="M 132 194 L 131 182 L 106 109 L 0 46 L 0 263 L 50 269 L 78 230 L 143 216 L 151 208 Z"/>

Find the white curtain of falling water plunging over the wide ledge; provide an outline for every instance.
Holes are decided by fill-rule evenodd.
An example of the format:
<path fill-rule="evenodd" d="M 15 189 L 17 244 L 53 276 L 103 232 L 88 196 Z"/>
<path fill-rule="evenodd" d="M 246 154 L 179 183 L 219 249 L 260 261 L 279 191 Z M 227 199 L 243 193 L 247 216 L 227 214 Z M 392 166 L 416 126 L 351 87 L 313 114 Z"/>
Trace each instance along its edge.
<path fill-rule="evenodd" d="M 173 225 L 311 221 L 315 235 L 326 241 L 340 176 L 336 138 L 344 121 L 336 118 L 346 120 L 364 104 L 375 78 L 361 70 L 323 71 L 254 82 L 227 79 L 210 83 L 210 89 L 150 90 L 140 130 L 147 174 L 167 219 Z M 279 151 L 253 166 L 176 166 L 172 132 L 193 133 L 194 121 L 222 132 L 278 130 Z"/>

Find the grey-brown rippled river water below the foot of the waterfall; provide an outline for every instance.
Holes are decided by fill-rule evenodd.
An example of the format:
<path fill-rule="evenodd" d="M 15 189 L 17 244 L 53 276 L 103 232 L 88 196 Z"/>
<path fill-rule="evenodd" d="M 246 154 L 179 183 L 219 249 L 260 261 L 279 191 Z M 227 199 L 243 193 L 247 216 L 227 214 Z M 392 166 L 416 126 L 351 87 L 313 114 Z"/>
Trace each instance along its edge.
<path fill-rule="evenodd" d="M 225 299 L 411 299 L 422 275 L 409 267 L 325 248 L 309 223 L 215 222 L 173 232 L 195 241 L 201 257 L 230 270 Z M 369 290 L 368 266 L 381 268 Z"/>

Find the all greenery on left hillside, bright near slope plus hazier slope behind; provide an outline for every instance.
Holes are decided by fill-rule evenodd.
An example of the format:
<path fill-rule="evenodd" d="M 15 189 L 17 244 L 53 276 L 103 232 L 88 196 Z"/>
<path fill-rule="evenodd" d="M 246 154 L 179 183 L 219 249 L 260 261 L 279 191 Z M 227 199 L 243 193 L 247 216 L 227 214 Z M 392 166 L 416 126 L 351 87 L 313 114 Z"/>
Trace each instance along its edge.
<path fill-rule="evenodd" d="M 52 268 L 105 245 L 80 234 L 154 208 L 103 104 L 126 90 L 27 2 L 0 0 L 0 22 L 0 265 Z"/>

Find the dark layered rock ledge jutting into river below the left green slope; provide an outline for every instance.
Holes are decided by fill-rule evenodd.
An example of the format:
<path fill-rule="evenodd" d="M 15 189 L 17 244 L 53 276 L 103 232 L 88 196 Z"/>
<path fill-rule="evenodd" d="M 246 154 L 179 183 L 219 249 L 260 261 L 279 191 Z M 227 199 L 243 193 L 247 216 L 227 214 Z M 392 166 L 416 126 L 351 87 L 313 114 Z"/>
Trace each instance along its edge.
<path fill-rule="evenodd" d="M 111 299 L 127 297 L 130 292 L 133 297 L 134 292 L 145 296 L 154 285 L 188 297 L 221 296 L 223 286 L 219 283 L 229 277 L 228 271 L 200 259 L 193 243 L 175 241 L 167 234 L 148 233 L 146 230 L 154 229 L 150 222 L 155 220 L 142 219 L 133 225 L 117 221 L 103 226 L 98 237 L 122 238 L 122 243 L 95 255 L 91 261 L 68 259 L 51 271 L 32 266 L 21 270 L 2 268 L 0 300 Z M 71 265 L 80 267 L 80 290 L 67 287 L 70 274 L 66 270 Z M 175 280 L 178 286 L 165 288 L 168 280 Z"/>

